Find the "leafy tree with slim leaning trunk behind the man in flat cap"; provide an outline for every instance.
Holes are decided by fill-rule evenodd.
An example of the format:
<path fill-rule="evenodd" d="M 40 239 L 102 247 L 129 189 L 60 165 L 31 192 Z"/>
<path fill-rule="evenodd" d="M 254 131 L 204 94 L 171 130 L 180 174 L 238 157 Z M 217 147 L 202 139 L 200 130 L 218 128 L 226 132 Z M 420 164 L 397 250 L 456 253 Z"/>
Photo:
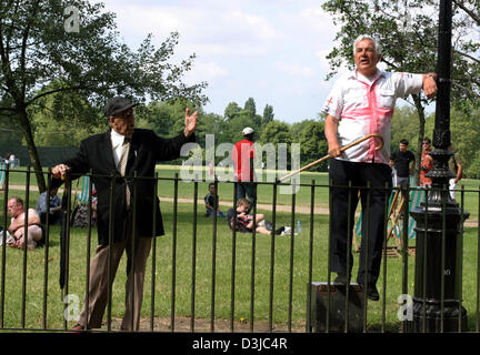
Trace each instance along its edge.
<path fill-rule="evenodd" d="M 64 16 L 72 6 L 73 16 Z M 126 95 L 143 102 L 189 98 L 206 102 L 201 93 L 206 83 L 186 85 L 181 79 L 191 69 L 194 55 L 179 65 L 169 62 L 179 34 L 171 33 L 156 48 L 152 36 L 147 36 L 133 52 L 119 38 L 114 14 L 101 12 L 102 3 L 77 0 L 10 0 L 2 1 L 0 17 L 0 106 L 1 115 L 9 115 L 21 128 L 40 191 L 46 190 L 32 131 L 30 109 L 42 108 L 42 100 L 56 95 L 54 115 L 66 121 L 84 113 L 86 102 L 101 115 L 106 99 Z M 71 18 L 78 30 L 69 27 Z M 67 26 L 66 26 L 67 24 Z M 54 88 L 44 90 L 56 82 Z M 74 95 L 69 95 L 76 93 Z M 71 110 L 76 110 L 73 113 Z M 91 112 L 90 111 L 90 112 Z"/>

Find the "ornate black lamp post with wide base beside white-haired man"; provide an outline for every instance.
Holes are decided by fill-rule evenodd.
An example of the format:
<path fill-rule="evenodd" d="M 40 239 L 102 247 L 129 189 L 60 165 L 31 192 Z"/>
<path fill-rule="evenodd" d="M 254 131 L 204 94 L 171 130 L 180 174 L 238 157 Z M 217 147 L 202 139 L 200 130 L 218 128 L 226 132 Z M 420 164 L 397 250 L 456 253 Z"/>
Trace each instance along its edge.
<path fill-rule="evenodd" d="M 432 180 L 424 203 L 410 212 L 417 222 L 417 253 L 413 320 L 410 332 L 459 332 L 467 328 L 467 311 L 461 306 L 462 223 L 469 213 L 459 209 L 449 193 L 454 174 L 448 161 L 450 145 L 450 65 L 452 1 L 440 1 L 438 87 L 433 130 Z"/>

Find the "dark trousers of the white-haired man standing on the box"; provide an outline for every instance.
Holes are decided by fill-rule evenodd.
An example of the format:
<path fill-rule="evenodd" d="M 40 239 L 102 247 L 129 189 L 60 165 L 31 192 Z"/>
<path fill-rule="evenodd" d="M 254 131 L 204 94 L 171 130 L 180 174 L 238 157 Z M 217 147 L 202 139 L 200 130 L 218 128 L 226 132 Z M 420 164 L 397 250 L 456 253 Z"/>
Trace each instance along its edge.
<path fill-rule="evenodd" d="M 330 190 L 332 206 L 331 215 L 331 268 L 338 274 L 347 274 L 347 250 L 350 245 L 354 227 L 354 212 L 360 200 L 362 206 L 362 237 L 360 250 L 360 263 L 357 282 L 364 284 L 366 270 L 368 271 L 367 283 L 374 285 L 380 274 L 380 263 L 384 239 L 384 214 L 386 201 L 391 187 L 391 169 L 387 164 L 376 163 L 354 163 L 330 160 Z M 352 186 L 367 186 L 370 182 L 372 189 L 348 189 L 349 182 Z M 349 209 L 350 199 L 350 209 Z M 369 205 L 368 199 L 370 200 Z M 369 212 L 368 212 L 369 210 Z M 350 224 L 349 224 L 350 214 Z M 368 221 L 367 221 L 368 220 Z M 369 222 L 369 225 L 367 225 Z M 368 255 L 367 251 L 368 241 Z M 366 256 L 368 256 L 366 266 Z M 353 265 L 353 255 L 350 252 L 350 270 Z"/>

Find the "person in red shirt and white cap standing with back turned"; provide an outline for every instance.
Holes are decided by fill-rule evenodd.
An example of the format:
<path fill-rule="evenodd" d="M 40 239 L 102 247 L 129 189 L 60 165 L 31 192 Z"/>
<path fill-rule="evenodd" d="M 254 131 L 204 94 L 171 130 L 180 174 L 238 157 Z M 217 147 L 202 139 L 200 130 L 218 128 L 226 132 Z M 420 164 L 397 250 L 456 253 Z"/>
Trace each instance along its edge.
<path fill-rule="evenodd" d="M 248 195 L 250 207 L 247 213 L 250 213 L 257 202 L 256 174 L 253 170 L 254 130 L 247 126 L 243 129 L 242 134 L 243 140 L 236 143 L 232 158 L 234 164 L 234 180 L 237 181 L 237 201 Z"/>

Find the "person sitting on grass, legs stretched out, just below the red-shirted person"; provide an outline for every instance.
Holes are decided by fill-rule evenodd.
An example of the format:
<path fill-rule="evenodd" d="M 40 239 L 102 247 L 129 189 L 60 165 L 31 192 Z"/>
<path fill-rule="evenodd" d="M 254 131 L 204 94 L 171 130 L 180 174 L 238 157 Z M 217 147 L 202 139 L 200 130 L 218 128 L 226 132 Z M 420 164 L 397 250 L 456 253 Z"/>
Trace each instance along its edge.
<path fill-rule="evenodd" d="M 253 232 L 253 227 L 256 227 L 257 233 L 260 234 L 267 234 L 271 235 L 272 231 L 271 227 L 268 226 L 271 225 L 268 222 L 264 222 L 264 215 L 261 213 L 256 214 L 256 219 L 253 221 L 253 215 L 248 214 L 247 211 L 250 209 L 250 201 L 242 197 L 237 201 L 237 210 L 230 209 L 227 214 L 227 222 L 231 230 L 233 230 L 233 226 L 237 231 L 242 233 L 251 233 Z M 236 223 L 236 215 L 237 215 L 237 223 Z M 281 234 L 286 235 L 289 234 L 288 232 L 289 227 L 280 227 L 278 229 L 274 234 Z"/>

